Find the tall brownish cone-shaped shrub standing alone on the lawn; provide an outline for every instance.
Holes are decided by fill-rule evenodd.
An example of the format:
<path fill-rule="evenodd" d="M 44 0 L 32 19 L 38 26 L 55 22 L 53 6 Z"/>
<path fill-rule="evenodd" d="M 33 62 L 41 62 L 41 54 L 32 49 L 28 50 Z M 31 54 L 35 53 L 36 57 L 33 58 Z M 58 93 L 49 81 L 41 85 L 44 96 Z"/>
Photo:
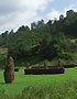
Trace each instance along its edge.
<path fill-rule="evenodd" d="M 6 84 L 12 84 L 14 80 L 14 64 L 13 58 L 10 56 L 4 68 L 4 81 Z"/>

